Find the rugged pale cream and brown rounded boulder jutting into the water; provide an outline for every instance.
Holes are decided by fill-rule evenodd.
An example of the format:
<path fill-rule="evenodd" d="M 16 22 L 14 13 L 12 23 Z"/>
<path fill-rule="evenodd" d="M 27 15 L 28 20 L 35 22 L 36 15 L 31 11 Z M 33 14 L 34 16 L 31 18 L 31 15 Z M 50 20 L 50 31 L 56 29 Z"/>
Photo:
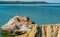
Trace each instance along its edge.
<path fill-rule="evenodd" d="M 34 22 L 28 16 L 15 16 L 2 26 L 2 30 L 9 33 L 28 32 L 33 26 Z"/>

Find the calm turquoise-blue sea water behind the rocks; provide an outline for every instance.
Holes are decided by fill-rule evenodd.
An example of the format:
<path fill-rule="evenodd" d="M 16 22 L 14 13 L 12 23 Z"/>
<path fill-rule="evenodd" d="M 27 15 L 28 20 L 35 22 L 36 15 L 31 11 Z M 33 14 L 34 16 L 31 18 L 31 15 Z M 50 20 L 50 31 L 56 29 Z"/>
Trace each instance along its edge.
<path fill-rule="evenodd" d="M 0 4 L 0 27 L 16 15 L 29 16 L 39 25 L 59 24 L 60 4 Z M 0 30 L 0 37 L 8 36 Z"/>

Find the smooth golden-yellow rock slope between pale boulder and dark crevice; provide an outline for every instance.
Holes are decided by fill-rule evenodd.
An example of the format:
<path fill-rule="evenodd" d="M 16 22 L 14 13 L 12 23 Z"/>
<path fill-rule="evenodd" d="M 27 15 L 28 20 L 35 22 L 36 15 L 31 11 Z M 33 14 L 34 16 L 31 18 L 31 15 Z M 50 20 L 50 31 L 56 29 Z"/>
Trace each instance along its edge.
<path fill-rule="evenodd" d="M 35 37 L 36 32 L 37 32 L 37 25 L 35 25 L 29 32 L 15 37 Z"/>

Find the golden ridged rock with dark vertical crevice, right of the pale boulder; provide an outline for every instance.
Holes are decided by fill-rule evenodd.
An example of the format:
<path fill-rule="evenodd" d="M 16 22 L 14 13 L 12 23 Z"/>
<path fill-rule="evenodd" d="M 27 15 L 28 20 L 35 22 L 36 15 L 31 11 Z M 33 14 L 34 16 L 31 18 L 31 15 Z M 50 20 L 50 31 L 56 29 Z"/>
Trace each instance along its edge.
<path fill-rule="evenodd" d="M 60 37 L 60 24 L 40 25 L 40 27 L 34 27 L 32 30 L 15 37 Z"/>

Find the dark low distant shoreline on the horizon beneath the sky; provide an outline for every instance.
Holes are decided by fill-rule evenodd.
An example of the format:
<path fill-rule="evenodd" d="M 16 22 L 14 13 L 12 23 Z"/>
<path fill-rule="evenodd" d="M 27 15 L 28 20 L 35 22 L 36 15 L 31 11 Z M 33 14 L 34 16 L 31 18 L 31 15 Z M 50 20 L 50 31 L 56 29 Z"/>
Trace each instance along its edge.
<path fill-rule="evenodd" d="M 22 1 L 0 1 L 0 4 L 47 4 L 44 1 L 22 2 Z"/>

